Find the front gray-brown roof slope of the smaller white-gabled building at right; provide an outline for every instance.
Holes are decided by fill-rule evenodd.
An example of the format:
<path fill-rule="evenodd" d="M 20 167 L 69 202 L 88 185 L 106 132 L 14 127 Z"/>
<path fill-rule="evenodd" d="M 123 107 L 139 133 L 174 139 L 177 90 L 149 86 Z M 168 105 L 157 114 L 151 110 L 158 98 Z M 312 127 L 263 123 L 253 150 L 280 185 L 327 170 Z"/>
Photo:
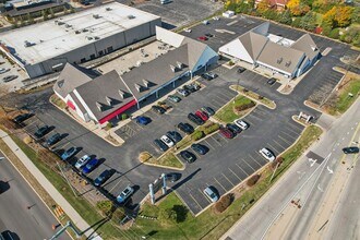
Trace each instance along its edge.
<path fill-rule="evenodd" d="M 287 73 L 293 73 L 304 52 L 287 48 L 273 41 L 267 41 L 257 58 L 259 63 L 265 63 Z"/>

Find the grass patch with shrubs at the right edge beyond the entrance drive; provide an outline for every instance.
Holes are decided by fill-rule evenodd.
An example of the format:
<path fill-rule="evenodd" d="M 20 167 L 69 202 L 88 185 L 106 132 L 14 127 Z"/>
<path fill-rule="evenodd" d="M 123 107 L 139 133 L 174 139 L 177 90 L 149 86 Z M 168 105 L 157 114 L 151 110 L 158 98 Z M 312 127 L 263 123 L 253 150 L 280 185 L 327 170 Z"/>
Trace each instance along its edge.
<path fill-rule="evenodd" d="M 351 79 L 338 93 L 335 105 L 327 106 L 331 115 L 344 113 L 357 99 L 360 92 L 360 79 Z M 349 96 L 352 94 L 352 97 Z"/>

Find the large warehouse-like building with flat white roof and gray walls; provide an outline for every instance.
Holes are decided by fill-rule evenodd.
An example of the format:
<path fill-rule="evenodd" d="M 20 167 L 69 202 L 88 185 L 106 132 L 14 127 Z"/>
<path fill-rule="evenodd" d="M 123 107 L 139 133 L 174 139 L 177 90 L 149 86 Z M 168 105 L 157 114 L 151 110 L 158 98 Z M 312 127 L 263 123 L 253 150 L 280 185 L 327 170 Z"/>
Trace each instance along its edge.
<path fill-rule="evenodd" d="M 36 77 L 148 38 L 160 25 L 157 15 L 113 2 L 0 33 L 0 50 Z"/>

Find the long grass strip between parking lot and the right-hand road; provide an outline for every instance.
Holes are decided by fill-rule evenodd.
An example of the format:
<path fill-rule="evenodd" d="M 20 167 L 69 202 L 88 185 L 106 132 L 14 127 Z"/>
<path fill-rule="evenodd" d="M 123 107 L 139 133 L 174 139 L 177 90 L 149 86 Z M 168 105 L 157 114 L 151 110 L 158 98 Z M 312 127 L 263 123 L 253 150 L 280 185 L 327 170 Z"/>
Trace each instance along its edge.
<path fill-rule="evenodd" d="M 194 217 L 184 211 L 183 203 L 175 194 L 170 193 L 157 206 L 145 203 L 141 215 L 158 217 L 159 209 L 181 209 L 181 221 L 160 223 L 137 218 L 136 227 L 132 230 L 139 233 L 151 233 L 152 239 L 219 239 L 244 213 L 285 173 L 285 171 L 301 156 L 301 154 L 322 134 L 319 127 L 308 127 L 300 140 L 283 155 L 284 163 L 278 167 L 272 183 L 269 178 L 272 171 L 266 168 L 262 172 L 261 180 L 251 189 L 242 190 L 241 196 L 237 199 L 227 211 L 216 214 L 212 208 L 206 209 L 200 216 Z"/>

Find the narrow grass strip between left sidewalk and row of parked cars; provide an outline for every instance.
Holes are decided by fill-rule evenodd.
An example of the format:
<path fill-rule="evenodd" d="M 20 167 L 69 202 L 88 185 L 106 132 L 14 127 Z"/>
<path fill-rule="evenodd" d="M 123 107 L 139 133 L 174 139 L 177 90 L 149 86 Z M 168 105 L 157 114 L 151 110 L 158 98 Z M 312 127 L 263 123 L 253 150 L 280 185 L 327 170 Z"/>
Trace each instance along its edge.
<path fill-rule="evenodd" d="M 65 182 L 65 180 L 53 172 L 45 163 L 38 160 L 35 151 L 27 146 L 24 142 L 19 140 L 16 136 L 12 136 L 13 141 L 17 146 L 26 154 L 26 156 L 32 159 L 36 167 L 44 173 L 44 176 L 53 184 L 53 187 L 62 194 L 63 197 L 76 209 L 76 212 L 87 221 L 88 225 L 94 225 L 103 219 L 103 217 L 97 213 L 96 208 L 91 205 L 82 196 L 75 196 Z M 93 227 L 97 228 L 97 225 Z M 98 228 L 97 233 L 99 233 L 104 239 L 119 239 L 122 236 L 120 229 L 115 227 L 110 223 L 106 223 L 100 228 Z"/>

